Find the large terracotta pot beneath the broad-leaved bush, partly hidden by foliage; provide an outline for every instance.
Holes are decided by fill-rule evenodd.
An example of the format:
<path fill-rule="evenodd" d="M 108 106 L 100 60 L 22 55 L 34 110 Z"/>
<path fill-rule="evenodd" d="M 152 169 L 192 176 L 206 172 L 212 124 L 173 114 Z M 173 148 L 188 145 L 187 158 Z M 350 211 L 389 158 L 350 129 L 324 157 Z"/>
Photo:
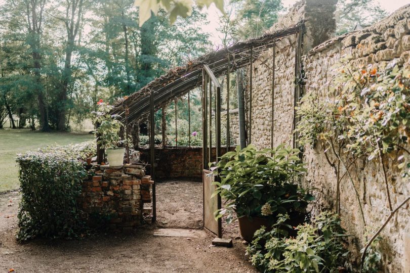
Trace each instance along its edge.
<path fill-rule="evenodd" d="M 287 224 L 291 226 L 298 226 L 299 224 L 305 222 L 305 217 L 309 213 L 300 214 L 297 216 L 291 216 L 290 219 L 286 221 Z M 243 216 L 238 218 L 239 221 L 239 231 L 240 236 L 242 236 L 243 240 L 247 242 L 252 242 L 254 238 L 254 233 L 261 228 L 262 225 L 266 226 L 266 230 L 271 230 L 271 225 L 275 222 L 274 219 L 267 219 L 267 218 L 260 218 L 260 217 L 252 217 L 252 219 L 248 218 L 247 216 Z M 283 227 L 284 230 L 289 232 L 290 236 L 296 236 L 297 231 L 294 229 L 288 229 Z"/>

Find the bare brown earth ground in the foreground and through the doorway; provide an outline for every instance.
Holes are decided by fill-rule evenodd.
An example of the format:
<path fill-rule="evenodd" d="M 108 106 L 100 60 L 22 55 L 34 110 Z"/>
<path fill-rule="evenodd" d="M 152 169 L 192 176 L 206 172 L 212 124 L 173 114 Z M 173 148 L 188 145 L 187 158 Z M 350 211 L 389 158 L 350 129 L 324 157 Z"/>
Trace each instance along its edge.
<path fill-rule="evenodd" d="M 157 184 L 158 226 L 196 229 L 202 220 L 201 183 Z M 0 195 L 0 271 L 7 272 L 256 272 L 244 256 L 235 225 L 224 232 L 233 248 L 213 247 L 213 237 L 154 237 L 157 227 L 133 235 L 100 234 L 84 240 L 34 240 L 18 244 L 17 192 Z M 11 202 L 10 202 L 11 201 Z M 10 206 L 11 205 L 11 206 Z"/>

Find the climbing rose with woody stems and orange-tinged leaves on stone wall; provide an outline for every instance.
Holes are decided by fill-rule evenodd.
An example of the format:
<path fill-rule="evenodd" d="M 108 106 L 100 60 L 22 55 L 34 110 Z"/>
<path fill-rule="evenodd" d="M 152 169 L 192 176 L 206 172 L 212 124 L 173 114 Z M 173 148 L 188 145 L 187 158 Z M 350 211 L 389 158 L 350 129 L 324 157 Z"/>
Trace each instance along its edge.
<path fill-rule="evenodd" d="M 343 60 L 342 60 L 343 61 Z M 337 176 L 336 211 L 340 213 L 340 183 L 347 176 L 364 214 L 350 168 L 357 159 L 378 160 L 384 174 L 390 215 L 367 242 L 361 264 L 372 242 L 406 198 L 393 208 L 386 173 L 386 159 L 393 160 L 404 179 L 410 177 L 410 70 L 391 62 L 386 67 L 370 65 L 356 68 L 337 65 L 338 75 L 326 96 L 309 93 L 297 108 L 300 122 L 296 128 L 300 144 L 315 146 L 320 142 L 326 160 Z M 331 161 L 329 154 L 336 157 Z M 344 171 L 342 173 L 342 170 Z"/>

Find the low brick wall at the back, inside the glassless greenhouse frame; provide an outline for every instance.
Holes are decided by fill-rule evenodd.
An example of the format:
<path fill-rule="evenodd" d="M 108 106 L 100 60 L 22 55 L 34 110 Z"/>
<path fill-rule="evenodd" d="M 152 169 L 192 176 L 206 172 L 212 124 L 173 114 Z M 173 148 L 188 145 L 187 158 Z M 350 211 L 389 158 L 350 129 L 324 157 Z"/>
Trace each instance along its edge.
<path fill-rule="evenodd" d="M 232 147 L 232 150 L 234 147 Z M 149 148 L 138 148 L 140 160 L 150 161 Z M 212 158 L 215 160 L 215 148 Z M 221 148 L 222 154 L 226 147 Z M 190 178 L 202 180 L 202 147 L 166 147 L 155 148 L 156 179 Z"/>

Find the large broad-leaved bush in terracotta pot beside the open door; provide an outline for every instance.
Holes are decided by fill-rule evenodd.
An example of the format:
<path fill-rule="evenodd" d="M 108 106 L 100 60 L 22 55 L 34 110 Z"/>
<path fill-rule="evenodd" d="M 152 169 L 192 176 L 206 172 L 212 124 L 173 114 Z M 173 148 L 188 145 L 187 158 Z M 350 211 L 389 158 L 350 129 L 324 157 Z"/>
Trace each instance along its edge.
<path fill-rule="evenodd" d="M 299 152 L 284 145 L 258 151 L 251 144 L 223 155 L 214 168 L 221 180 L 214 183 L 215 194 L 228 203 L 215 217 L 227 214 L 229 223 L 236 212 L 241 236 L 247 241 L 262 225 L 271 226 L 279 214 L 287 213 L 291 226 L 303 222 L 314 197 L 298 186 L 300 175 L 306 172 Z"/>

